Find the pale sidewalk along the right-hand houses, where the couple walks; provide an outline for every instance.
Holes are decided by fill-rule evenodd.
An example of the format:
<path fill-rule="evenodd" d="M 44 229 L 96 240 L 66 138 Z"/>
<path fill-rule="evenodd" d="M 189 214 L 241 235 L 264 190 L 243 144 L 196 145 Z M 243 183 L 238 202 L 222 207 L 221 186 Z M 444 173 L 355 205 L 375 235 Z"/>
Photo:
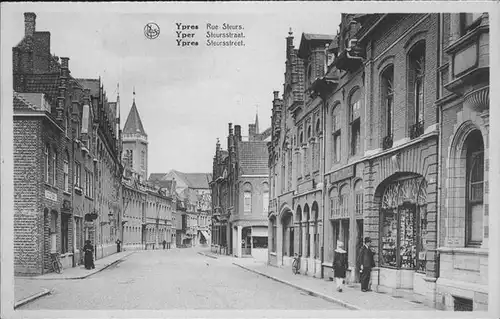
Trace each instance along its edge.
<path fill-rule="evenodd" d="M 354 288 L 344 286 L 342 292 L 335 290 L 335 283 L 326 279 L 317 279 L 304 275 L 294 275 L 290 268 L 279 268 L 267 265 L 264 262 L 251 258 L 235 258 L 226 255 L 216 255 L 210 251 L 198 252 L 210 258 L 221 261 L 232 262 L 233 265 L 247 271 L 265 276 L 272 280 L 292 286 L 307 292 L 310 295 L 340 304 L 352 310 L 374 310 L 374 311 L 437 311 L 423 304 L 414 303 L 407 299 L 395 298 L 388 294 L 377 292 L 361 292 L 359 285 Z"/>

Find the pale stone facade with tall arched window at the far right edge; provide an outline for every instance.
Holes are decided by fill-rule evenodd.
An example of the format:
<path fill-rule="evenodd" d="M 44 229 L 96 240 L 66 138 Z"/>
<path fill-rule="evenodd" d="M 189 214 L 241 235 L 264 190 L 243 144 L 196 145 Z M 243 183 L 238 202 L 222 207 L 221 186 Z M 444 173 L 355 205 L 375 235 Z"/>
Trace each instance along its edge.
<path fill-rule="evenodd" d="M 487 310 L 489 15 L 440 15 L 438 57 L 440 228 L 436 304 Z"/>

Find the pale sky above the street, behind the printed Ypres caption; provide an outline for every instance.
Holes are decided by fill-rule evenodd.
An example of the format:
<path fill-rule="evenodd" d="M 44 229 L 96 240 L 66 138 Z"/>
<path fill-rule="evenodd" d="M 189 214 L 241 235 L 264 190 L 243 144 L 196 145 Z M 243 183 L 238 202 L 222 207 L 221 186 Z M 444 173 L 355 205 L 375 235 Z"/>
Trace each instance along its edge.
<path fill-rule="evenodd" d="M 73 77 L 100 76 L 110 100 L 116 99 L 119 83 L 122 127 L 135 88 L 149 140 L 148 174 L 211 172 L 217 138 L 226 147 L 228 123 L 241 125 L 248 135 L 258 112 L 260 130 L 269 127 L 273 91 L 280 96 L 283 91 L 289 29 L 298 47 L 302 32 L 335 34 L 340 23 L 332 2 L 247 7 L 23 3 L 10 9 L 3 15 L 2 27 L 11 30 L 3 45 L 21 41 L 23 12 L 35 12 L 36 30 L 50 31 L 51 51 L 70 58 Z M 160 27 L 156 39 L 144 35 L 149 22 Z M 198 26 L 193 31 L 198 46 L 177 45 L 177 23 Z M 241 25 L 245 46 L 206 46 L 207 23 Z"/>

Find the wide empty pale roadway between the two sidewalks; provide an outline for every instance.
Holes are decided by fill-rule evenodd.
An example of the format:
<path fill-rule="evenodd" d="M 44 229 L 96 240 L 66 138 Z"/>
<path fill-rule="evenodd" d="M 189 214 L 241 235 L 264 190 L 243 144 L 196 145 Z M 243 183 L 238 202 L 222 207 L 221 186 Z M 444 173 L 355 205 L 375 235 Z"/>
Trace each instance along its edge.
<path fill-rule="evenodd" d="M 189 248 L 138 251 L 85 279 L 16 285 L 26 281 L 52 293 L 19 310 L 346 310 Z"/>

